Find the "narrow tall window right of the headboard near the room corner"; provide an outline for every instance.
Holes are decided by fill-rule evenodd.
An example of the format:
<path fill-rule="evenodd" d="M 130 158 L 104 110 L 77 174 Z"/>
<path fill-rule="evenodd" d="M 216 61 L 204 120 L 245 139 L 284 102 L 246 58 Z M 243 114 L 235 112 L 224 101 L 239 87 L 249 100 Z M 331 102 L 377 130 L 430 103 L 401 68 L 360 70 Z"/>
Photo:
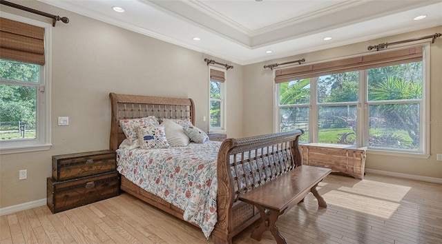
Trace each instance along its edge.
<path fill-rule="evenodd" d="M 225 132 L 226 70 L 209 66 L 209 132 Z"/>

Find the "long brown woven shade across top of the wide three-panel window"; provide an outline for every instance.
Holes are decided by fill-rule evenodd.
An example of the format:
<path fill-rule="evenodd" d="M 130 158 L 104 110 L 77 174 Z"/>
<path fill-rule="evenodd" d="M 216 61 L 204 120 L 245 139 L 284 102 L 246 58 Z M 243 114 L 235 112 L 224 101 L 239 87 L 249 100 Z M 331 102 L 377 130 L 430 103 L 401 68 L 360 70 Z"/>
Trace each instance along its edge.
<path fill-rule="evenodd" d="M 421 61 L 422 47 L 413 47 L 392 52 L 382 52 L 361 57 L 341 59 L 324 63 L 296 66 L 293 68 L 276 70 L 275 83 L 296 81 L 311 77 L 320 77 L 325 74 L 338 74 L 355 70 L 367 70 L 400 63 Z"/>

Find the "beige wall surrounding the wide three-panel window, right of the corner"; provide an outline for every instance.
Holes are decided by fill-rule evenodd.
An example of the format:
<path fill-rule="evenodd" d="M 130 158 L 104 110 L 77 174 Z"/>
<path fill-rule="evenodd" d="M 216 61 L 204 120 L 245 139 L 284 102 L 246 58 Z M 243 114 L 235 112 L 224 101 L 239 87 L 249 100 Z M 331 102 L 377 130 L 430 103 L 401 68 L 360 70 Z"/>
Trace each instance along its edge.
<path fill-rule="evenodd" d="M 305 58 L 306 63 L 338 59 L 368 52 L 367 46 L 386 41 L 401 41 L 441 33 L 442 26 L 383 39 L 365 41 L 340 48 L 300 54 L 285 59 L 277 59 L 244 66 L 244 136 L 273 132 L 273 72 L 262 67 L 268 63 L 282 63 Z M 427 39 L 426 41 L 431 41 Z M 430 153 L 429 159 L 416 159 L 407 156 L 383 156 L 367 152 L 366 167 L 401 174 L 414 174 L 442 178 L 442 161 L 436 161 L 436 154 L 442 154 L 442 39 L 436 39 L 431 45 L 430 66 Z M 259 121 L 259 123 L 256 123 Z"/>

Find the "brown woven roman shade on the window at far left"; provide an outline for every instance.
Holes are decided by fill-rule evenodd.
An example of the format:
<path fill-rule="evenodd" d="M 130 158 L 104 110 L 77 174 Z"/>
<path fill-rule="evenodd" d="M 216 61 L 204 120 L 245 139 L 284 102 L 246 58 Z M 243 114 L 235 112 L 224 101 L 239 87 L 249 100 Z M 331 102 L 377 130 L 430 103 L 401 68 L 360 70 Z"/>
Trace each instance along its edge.
<path fill-rule="evenodd" d="M 0 18 L 0 58 L 44 65 L 44 28 Z"/>

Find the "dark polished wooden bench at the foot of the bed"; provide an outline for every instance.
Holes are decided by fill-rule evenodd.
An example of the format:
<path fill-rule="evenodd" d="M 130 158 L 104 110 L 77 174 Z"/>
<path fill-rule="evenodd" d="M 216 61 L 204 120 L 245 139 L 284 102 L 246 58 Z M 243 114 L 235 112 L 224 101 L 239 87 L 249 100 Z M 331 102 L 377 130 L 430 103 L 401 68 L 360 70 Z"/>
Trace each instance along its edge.
<path fill-rule="evenodd" d="M 302 165 L 278 176 L 276 179 L 254 188 L 251 192 L 240 195 L 240 201 L 251 203 L 258 208 L 261 224 L 251 232 L 251 238 L 261 241 L 262 233 L 270 230 L 276 243 L 286 243 L 276 227 L 278 216 L 304 200 L 309 192 L 318 199 L 320 207 L 327 207 L 316 186 L 332 170 L 323 167 Z"/>

